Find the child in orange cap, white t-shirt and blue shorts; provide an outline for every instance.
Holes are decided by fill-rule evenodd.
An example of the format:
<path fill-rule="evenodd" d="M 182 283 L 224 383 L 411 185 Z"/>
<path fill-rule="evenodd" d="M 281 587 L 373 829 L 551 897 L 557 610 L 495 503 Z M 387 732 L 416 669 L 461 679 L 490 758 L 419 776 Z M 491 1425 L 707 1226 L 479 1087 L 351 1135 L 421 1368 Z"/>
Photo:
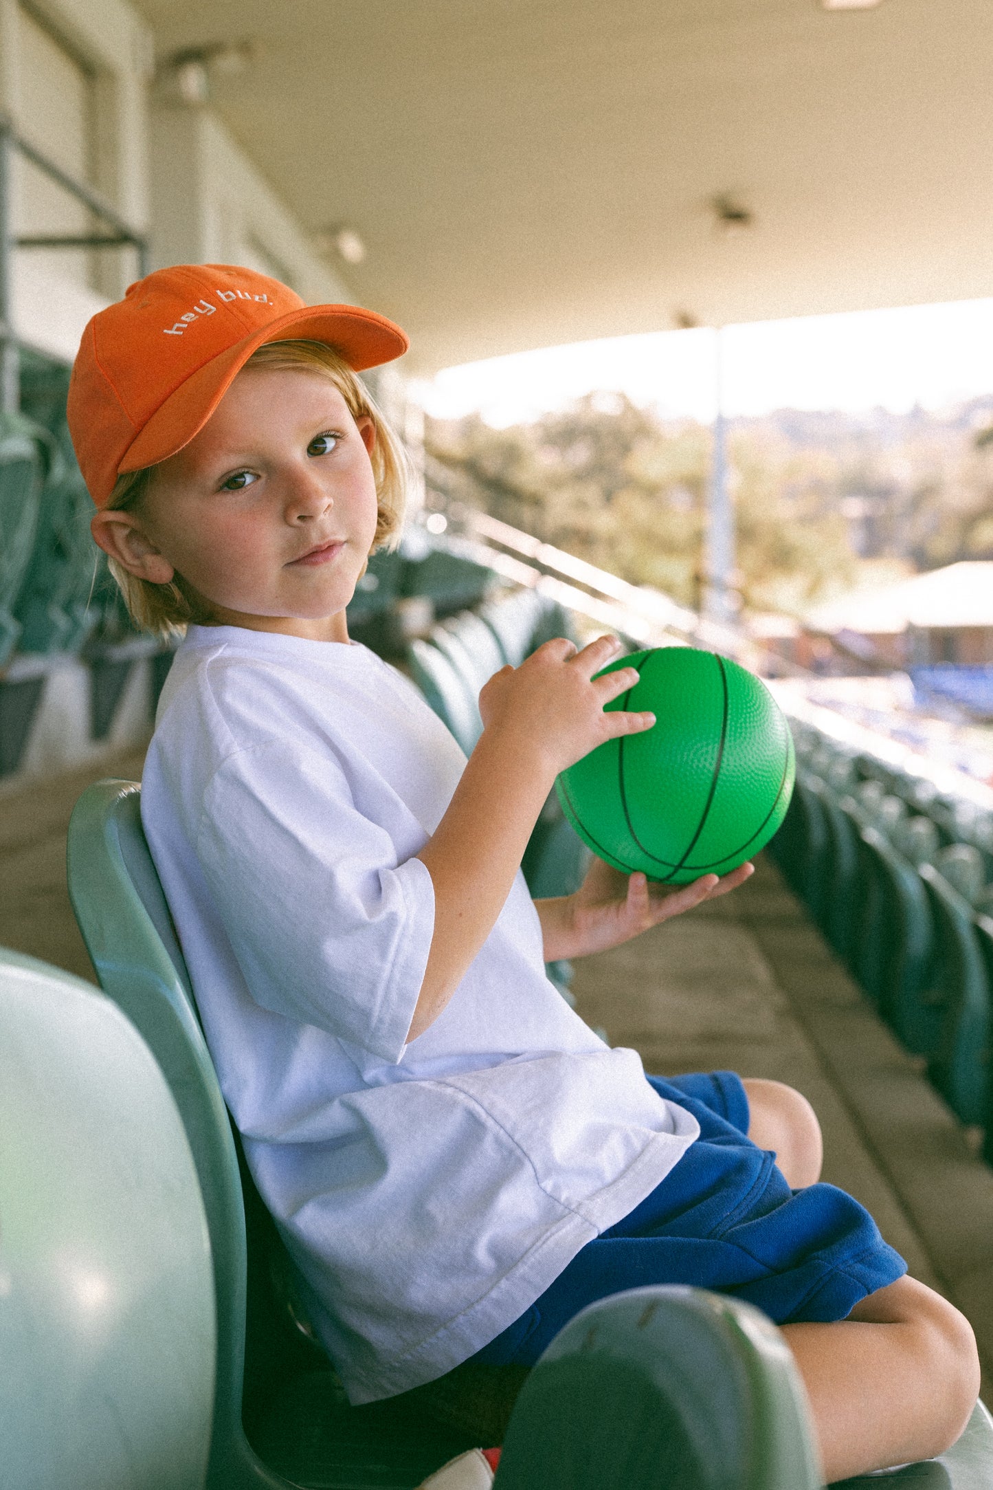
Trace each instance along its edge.
<path fill-rule="evenodd" d="M 646 1080 L 545 977 L 750 872 L 665 895 L 594 863 L 576 895 L 527 895 L 557 772 L 654 723 L 603 711 L 633 681 L 594 678 L 618 642 L 499 672 L 467 763 L 348 642 L 402 478 L 354 372 L 405 349 L 369 311 L 186 265 L 94 317 L 70 389 L 94 536 L 140 623 L 188 627 L 143 821 L 313 1322 L 366 1402 L 533 1362 L 607 1293 L 697 1283 L 785 1325 L 828 1478 L 938 1453 L 978 1390 L 969 1326 L 814 1183 L 804 1100 Z"/>

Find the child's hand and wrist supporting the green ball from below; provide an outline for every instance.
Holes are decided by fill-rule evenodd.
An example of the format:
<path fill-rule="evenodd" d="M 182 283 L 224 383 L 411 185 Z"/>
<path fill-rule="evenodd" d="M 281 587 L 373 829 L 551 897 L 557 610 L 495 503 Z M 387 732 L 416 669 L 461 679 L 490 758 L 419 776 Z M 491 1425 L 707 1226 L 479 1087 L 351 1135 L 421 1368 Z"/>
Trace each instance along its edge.
<path fill-rule="evenodd" d="M 649 884 L 645 875 L 622 875 L 594 858 L 575 895 L 536 901 L 545 936 L 545 961 L 621 946 L 660 921 L 692 910 L 703 900 L 727 895 L 743 885 L 753 870 L 753 864 L 741 864 L 724 879 L 704 875 L 692 885 L 667 888 Z"/>

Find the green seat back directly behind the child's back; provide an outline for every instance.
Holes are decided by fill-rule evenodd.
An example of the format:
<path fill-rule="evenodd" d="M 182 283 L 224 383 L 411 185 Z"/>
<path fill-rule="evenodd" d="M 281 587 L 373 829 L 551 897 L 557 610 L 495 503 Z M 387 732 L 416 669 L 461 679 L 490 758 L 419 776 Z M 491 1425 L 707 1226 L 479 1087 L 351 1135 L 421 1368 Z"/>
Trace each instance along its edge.
<path fill-rule="evenodd" d="M 247 1252 L 238 1158 L 189 974 L 144 842 L 140 787 L 101 781 L 68 824 L 68 894 L 100 986 L 147 1042 L 173 1092 L 204 1198 L 217 1308 L 210 1483 L 281 1486 L 241 1424 Z"/>

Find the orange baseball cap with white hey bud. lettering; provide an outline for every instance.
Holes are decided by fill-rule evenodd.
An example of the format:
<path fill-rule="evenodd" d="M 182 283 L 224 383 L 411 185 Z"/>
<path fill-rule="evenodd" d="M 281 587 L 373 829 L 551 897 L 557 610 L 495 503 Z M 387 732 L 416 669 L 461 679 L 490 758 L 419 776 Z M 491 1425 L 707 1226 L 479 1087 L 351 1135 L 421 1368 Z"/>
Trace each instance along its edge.
<path fill-rule="evenodd" d="M 176 264 L 130 286 L 86 329 L 68 384 L 68 429 L 97 507 L 118 475 L 156 465 L 204 428 L 265 341 L 323 341 L 354 368 L 409 343 L 357 305 L 305 305 L 266 274 L 231 264 Z"/>

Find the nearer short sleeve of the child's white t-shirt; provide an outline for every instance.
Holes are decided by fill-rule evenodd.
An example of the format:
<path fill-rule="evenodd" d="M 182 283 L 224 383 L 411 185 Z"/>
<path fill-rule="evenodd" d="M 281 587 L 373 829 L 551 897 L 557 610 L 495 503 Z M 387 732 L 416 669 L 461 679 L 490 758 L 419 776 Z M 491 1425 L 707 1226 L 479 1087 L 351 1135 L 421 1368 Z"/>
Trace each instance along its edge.
<path fill-rule="evenodd" d="M 207 787 L 197 849 L 256 1003 L 397 1062 L 435 893 L 357 811 L 341 763 L 287 744 L 238 751 Z"/>

